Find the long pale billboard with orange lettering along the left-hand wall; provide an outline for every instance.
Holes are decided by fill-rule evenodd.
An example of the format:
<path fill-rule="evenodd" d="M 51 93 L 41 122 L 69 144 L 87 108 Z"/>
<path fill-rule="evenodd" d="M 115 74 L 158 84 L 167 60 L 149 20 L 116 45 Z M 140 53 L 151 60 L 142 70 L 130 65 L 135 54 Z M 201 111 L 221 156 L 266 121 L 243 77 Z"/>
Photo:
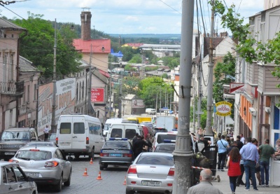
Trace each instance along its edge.
<path fill-rule="evenodd" d="M 70 114 L 75 109 L 76 78 L 66 78 L 56 82 L 55 94 L 55 125 L 62 114 Z M 38 135 L 43 134 L 45 125 L 52 123 L 52 92 L 53 83 L 39 86 L 38 95 Z"/>

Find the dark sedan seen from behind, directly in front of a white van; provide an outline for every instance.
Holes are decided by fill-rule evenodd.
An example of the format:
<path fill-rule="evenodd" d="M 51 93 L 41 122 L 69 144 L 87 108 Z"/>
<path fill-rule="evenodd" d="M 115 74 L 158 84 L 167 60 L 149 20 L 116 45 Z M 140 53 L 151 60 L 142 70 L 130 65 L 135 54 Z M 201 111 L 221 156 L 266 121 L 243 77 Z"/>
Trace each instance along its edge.
<path fill-rule="evenodd" d="M 129 167 L 134 159 L 132 146 L 127 138 L 110 138 L 100 151 L 99 169 L 108 165 L 125 165 Z"/>

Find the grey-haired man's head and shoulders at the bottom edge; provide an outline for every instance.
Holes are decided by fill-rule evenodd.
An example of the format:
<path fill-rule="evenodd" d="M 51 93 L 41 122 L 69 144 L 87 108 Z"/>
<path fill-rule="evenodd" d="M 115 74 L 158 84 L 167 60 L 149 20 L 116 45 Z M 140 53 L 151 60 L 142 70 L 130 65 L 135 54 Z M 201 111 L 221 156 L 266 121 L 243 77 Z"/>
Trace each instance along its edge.
<path fill-rule="evenodd" d="M 187 194 L 196 194 L 196 193 L 215 193 L 223 194 L 221 190 L 214 187 L 211 183 L 212 172 L 211 169 L 202 169 L 200 172 L 200 183 L 188 188 Z"/>

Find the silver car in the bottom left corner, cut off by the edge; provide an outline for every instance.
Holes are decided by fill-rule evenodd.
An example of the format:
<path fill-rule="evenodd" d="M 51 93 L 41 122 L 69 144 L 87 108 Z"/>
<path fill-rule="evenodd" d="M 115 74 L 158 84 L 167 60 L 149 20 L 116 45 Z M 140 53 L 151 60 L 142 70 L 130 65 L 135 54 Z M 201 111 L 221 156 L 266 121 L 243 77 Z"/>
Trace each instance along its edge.
<path fill-rule="evenodd" d="M 0 194 L 37 194 L 37 186 L 32 178 L 25 175 L 20 166 L 10 162 L 0 162 Z"/>

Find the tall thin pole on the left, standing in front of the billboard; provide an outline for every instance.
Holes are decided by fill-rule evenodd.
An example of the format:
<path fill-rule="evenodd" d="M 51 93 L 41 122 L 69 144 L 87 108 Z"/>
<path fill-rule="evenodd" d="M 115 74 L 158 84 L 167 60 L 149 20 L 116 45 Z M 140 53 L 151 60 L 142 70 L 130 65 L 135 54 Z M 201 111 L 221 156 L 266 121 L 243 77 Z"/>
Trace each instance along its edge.
<path fill-rule="evenodd" d="M 55 95 L 57 92 L 57 81 L 56 81 L 56 74 L 57 74 L 57 18 L 55 18 L 55 46 L 53 46 L 53 76 L 52 76 L 52 123 L 50 125 L 50 129 L 52 133 L 56 132 L 55 129 L 55 108 L 56 108 L 56 100 Z"/>

